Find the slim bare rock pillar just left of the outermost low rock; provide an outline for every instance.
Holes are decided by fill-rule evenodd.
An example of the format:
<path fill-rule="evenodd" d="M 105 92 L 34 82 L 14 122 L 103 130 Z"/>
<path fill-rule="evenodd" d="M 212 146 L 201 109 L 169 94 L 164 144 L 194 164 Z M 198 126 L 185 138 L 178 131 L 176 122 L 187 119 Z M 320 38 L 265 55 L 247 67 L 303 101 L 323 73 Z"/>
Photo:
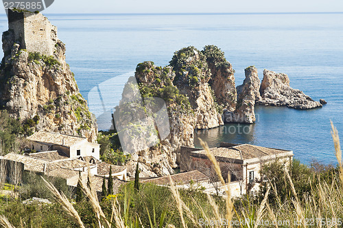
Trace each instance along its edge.
<path fill-rule="evenodd" d="M 224 121 L 230 123 L 255 123 L 255 103 L 261 99 L 260 81 L 255 66 L 245 69 L 246 79 L 237 86 L 237 105 L 234 112 L 224 112 Z"/>

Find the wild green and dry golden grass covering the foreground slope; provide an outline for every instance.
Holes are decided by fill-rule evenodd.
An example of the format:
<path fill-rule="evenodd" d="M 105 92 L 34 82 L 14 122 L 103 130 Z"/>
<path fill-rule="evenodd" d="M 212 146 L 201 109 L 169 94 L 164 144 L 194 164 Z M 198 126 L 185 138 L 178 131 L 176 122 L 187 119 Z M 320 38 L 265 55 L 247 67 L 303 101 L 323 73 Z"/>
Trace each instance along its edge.
<path fill-rule="evenodd" d="M 270 181 L 261 200 L 244 196 L 239 200 L 231 199 L 230 189 L 226 188 L 224 199 L 215 198 L 202 192 L 189 192 L 176 188 L 170 179 L 169 188 L 142 185 L 139 191 L 132 183 L 124 186 L 121 194 L 113 200 L 99 202 L 95 191 L 80 181 L 84 194 L 93 209 L 98 227 L 342 227 L 343 218 L 343 165 L 338 131 L 332 127 L 338 172 L 329 181 L 309 178 L 310 190 L 299 192 L 294 177 L 285 169 L 285 186 Z M 206 155 L 215 167 L 220 181 L 224 182 L 220 166 L 209 148 L 202 142 Z M 88 169 L 89 170 L 89 169 Z M 230 175 L 229 175 L 230 176 Z M 317 177 L 316 177 L 317 178 Z M 318 177 L 320 178 L 320 177 Z M 92 182 L 88 173 L 89 182 Z M 58 203 L 69 214 L 78 227 L 86 227 L 82 216 L 64 194 L 58 192 L 51 183 L 45 182 L 54 193 Z M 287 188 L 286 197 L 281 199 L 278 188 Z M 273 192 L 273 198 L 270 194 Z M 300 195 L 301 194 L 301 195 Z M 0 223 L 11 227 L 11 218 L 1 216 Z M 237 223 L 239 220 L 243 223 Z M 213 223 L 209 221 L 222 221 Z M 268 221 L 268 223 L 267 223 Z M 207 225 L 206 225 L 207 224 Z"/>

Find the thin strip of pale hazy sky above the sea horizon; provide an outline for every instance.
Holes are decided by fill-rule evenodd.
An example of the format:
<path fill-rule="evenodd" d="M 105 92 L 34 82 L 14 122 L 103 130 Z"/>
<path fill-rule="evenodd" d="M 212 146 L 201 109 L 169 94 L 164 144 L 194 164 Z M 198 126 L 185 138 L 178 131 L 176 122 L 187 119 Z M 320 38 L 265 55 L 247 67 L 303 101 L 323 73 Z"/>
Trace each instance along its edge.
<path fill-rule="evenodd" d="M 55 0 L 47 13 L 343 12 L 342 0 Z"/>

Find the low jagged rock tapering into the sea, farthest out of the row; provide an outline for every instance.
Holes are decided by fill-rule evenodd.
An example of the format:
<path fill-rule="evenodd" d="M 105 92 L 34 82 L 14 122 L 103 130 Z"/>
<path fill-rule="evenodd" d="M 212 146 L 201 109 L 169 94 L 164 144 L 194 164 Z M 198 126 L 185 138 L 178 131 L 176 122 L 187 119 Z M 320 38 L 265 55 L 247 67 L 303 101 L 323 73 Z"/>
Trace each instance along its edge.
<path fill-rule="evenodd" d="M 260 93 L 262 98 L 257 101 L 258 105 L 287 106 L 299 110 L 322 107 L 303 91 L 291 88 L 288 76 L 283 73 L 264 70 Z"/>

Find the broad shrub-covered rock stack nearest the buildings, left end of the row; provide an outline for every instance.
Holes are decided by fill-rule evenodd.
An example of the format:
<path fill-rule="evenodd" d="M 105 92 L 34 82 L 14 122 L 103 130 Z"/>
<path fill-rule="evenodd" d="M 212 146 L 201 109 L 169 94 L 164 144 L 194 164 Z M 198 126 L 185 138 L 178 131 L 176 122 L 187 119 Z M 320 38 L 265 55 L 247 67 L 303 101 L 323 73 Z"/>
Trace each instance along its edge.
<path fill-rule="evenodd" d="M 134 131 L 139 131 L 139 134 L 129 134 L 127 138 L 121 138 L 121 144 L 128 144 L 128 149 L 134 151 L 132 160 L 126 165 L 128 170 L 135 170 L 137 162 L 142 164 L 141 177 L 174 173 L 173 168 L 177 166 L 176 151 L 180 150 L 181 145 L 193 146 L 196 117 L 189 99 L 180 94 L 174 86 L 172 81 L 175 76 L 170 66 L 162 68 L 155 66 L 153 62 L 138 64 L 135 73 L 138 84 L 134 84 L 132 78 L 129 79 L 122 94 L 120 107 L 115 107 L 114 116 L 117 116 L 117 112 L 124 113 L 119 118 L 120 125 L 130 126 Z M 134 86 L 138 86 L 138 89 Z M 154 97 L 163 99 L 167 105 L 170 134 L 163 140 L 159 140 L 161 132 L 151 128 L 154 126 L 154 115 L 145 117 L 147 110 L 150 110 L 152 103 L 156 101 Z M 116 125 L 116 129 L 117 127 Z M 117 129 L 119 130 L 122 129 Z M 156 143 L 143 149 L 151 142 Z M 134 175 L 134 172 L 129 171 L 128 175 Z"/>

